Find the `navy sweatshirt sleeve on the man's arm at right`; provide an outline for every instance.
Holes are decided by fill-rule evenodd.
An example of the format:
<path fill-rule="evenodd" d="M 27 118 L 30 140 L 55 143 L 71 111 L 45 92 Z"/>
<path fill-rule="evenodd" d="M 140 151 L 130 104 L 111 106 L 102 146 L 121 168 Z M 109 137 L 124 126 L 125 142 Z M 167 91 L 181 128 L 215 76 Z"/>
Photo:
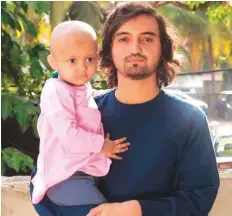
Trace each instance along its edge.
<path fill-rule="evenodd" d="M 219 188 L 219 174 L 208 123 L 201 112 L 194 116 L 178 167 L 171 196 L 139 200 L 143 216 L 208 216 Z"/>

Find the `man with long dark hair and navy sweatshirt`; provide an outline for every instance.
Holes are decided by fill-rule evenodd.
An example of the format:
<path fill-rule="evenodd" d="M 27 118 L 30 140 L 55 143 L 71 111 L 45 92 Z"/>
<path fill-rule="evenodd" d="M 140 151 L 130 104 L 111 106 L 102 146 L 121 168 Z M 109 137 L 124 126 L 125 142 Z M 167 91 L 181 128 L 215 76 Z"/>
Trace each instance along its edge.
<path fill-rule="evenodd" d="M 219 176 L 206 117 L 161 89 L 174 78 L 173 50 L 164 20 L 148 6 L 119 4 L 107 18 L 101 60 L 116 89 L 96 101 L 105 133 L 131 145 L 99 182 L 109 203 L 88 216 L 208 215 Z M 42 202 L 55 215 L 91 208 L 67 213 Z"/>

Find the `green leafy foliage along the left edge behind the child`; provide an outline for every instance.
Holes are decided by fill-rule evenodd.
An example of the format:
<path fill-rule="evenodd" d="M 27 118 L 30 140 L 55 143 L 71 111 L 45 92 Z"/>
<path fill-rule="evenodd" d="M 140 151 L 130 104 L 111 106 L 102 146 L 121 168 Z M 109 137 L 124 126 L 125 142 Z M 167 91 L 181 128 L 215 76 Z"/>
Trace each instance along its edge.
<path fill-rule="evenodd" d="M 1 113 L 3 122 L 16 119 L 22 133 L 32 127 L 38 136 L 38 96 L 48 77 L 48 48 L 37 39 L 37 23 L 29 16 L 30 9 L 42 18 L 49 12 L 49 5 L 47 2 L 1 2 Z M 34 166 L 29 156 L 14 148 L 3 149 L 1 155 L 2 174 L 8 168 L 26 172 Z"/>

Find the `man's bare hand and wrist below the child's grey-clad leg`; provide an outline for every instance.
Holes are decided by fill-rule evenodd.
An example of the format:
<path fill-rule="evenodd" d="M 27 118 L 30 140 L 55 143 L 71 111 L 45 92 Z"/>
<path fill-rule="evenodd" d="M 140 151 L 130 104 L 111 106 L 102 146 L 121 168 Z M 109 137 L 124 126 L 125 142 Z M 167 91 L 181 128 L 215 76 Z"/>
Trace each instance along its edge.
<path fill-rule="evenodd" d="M 87 216 L 142 216 L 142 209 L 136 200 L 105 203 L 93 208 Z"/>

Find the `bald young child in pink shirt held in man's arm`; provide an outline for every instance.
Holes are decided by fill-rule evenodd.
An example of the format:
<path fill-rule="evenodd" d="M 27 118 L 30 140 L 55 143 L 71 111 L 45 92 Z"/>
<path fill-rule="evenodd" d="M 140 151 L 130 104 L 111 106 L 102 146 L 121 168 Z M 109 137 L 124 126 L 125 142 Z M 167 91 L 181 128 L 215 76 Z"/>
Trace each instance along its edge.
<path fill-rule="evenodd" d="M 38 119 L 40 153 L 32 179 L 32 203 L 45 194 L 57 205 L 106 202 L 96 178 L 108 173 L 117 153 L 128 150 L 126 138 L 104 139 L 101 115 L 89 81 L 97 68 L 97 42 L 93 28 L 67 21 L 51 35 L 50 66 L 57 79 L 48 79 L 41 93 Z"/>

